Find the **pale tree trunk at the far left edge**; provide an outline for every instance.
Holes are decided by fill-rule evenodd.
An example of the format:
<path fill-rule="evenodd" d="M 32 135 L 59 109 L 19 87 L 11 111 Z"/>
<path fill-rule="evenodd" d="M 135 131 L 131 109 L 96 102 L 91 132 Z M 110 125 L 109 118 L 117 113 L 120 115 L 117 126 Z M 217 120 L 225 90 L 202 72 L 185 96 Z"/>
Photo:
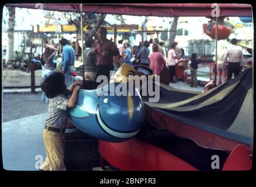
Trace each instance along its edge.
<path fill-rule="evenodd" d="M 14 26 L 15 26 L 15 7 L 7 7 L 9 11 L 8 20 L 8 46 L 6 51 L 6 61 L 14 60 Z"/>

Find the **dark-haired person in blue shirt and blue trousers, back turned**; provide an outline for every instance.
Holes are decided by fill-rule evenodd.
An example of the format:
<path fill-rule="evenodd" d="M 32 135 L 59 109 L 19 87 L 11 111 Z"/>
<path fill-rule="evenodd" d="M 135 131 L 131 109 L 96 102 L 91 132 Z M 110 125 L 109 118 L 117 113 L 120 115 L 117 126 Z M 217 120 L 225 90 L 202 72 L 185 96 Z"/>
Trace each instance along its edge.
<path fill-rule="evenodd" d="M 63 46 L 60 72 L 64 74 L 66 85 L 69 87 L 72 81 L 72 72 L 74 71 L 75 50 L 69 46 L 69 41 L 66 39 L 61 39 L 60 44 Z"/>

